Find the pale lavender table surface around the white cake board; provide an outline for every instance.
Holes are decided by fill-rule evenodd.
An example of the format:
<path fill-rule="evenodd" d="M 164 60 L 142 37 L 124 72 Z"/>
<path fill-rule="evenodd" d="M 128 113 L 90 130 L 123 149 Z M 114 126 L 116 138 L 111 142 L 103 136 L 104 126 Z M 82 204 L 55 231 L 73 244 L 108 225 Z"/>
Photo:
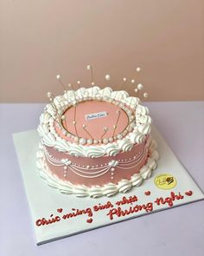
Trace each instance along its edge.
<path fill-rule="evenodd" d="M 146 105 L 169 147 L 204 191 L 204 102 Z M 43 107 L 0 104 L 0 255 L 203 255 L 203 200 L 36 246 L 12 134 L 36 128 Z"/>

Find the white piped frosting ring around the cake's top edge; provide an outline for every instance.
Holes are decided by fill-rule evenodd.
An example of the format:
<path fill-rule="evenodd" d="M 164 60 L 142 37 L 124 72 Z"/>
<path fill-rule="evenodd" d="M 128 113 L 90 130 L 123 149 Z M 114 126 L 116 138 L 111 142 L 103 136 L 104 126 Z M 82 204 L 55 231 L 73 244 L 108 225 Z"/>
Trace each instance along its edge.
<path fill-rule="evenodd" d="M 105 154 L 115 156 L 120 151 L 125 152 L 131 150 L 135 143 L 142 143 L 145 135 L 150 134 L 151 118 L 148 115 L 148 108 L 139 105 L 139 99 L 137 97 L 130 97 L 124 90 L 112 91 L 109 87 L 99 89 L 97 86 L 89 89 L 80 88 L 76 91 L 69 90 L 64 95 L 55 97 L 54 105 L 58 109 L 59 115 L 62 115 L 74 102 L 78 100 L 84 101 L 88 98 L 102 99 L 107 102 L 112 102 L 113 99 L 117 99 L 122 105 L 136 109 L 136 123 L 134 124 L 133 122 L 131 124 L 128 128 L 129 132 L 124 133 L 124 138 L 121 138 L 121 135 L 118 135 L 118 141 L 112 141 L 111 138 L 109 138 L 108 141 L 105 139 L 104 144 L 89 145 L 90 141 L 80 138 L 80 144 L 78 144 L 77 141 L 70 142 L 62 139 L 56 133 L 54 129 L 54 119 L 51 116 L 56 114 L 56 111 L 54 111 L 51 104 L 48 104 L 46 107 L 48 112 L 41 114 L 40 125 L 38 127 L 38 133 L 41 136 L 41 141 L 44 145 L 54 147 L 61 152 L 68 152 L 74 156 L 86 156 L 92 158 L 101 157 Z M 66 131 L 64 132 L 66 134 Z M 88 145 L 86 145 L 86 142 Z M 95 143 L 96 140 L 93 142 Z"/>

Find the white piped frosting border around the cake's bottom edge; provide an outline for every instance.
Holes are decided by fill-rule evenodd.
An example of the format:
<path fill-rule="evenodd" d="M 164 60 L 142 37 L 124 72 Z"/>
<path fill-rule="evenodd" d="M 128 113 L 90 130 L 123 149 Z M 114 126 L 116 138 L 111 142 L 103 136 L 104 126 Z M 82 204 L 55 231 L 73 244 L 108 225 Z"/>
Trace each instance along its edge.
<path fill-rule="evenodd" d="M 41 146 L 37 152 L 37 167 L 40 170 L 41 177 L 44 178 L 48 185 L 51 187 L 58 188 L 61 193 L 64 194 L 75 194 L 79 197 L 90 196 L 97 198 L 101 196 L 112 196 L 118 192 L 127 192 L 131 187 L 138 187 L 143 183 L 143 180 L 150 178 L 152 171 L 156 168 L 156 161 L 158 160 L 159 154 L 156 151 L 156 141 L 150 141 L 149 158 L 146 164 L 140 169 L 138 174 L 133 174 L 130 180 L 119 181 L 118 184 L 108 183 L 104 186 L 93 186 L 86 187 L 83 185 L 74 186 L 69 181 L 61 181 L 57 176 L 52 174 L 46 165 L 43 158 L 43 151 Z M 69 164 L 68 160 L 65 160 Z M 117 165 L 117 162 L 111 162 L 111 165 Z"/>

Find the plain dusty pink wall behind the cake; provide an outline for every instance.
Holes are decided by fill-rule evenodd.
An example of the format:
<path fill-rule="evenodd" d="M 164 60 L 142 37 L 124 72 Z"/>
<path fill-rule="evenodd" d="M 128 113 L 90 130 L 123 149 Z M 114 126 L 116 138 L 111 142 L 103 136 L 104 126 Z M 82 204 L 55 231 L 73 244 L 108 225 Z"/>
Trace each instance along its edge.
<path fill-rule="evenodd" d="M 55 75 L 150 101 L 204 100 L 203 0 L 0 0 L 0 102 L 45 102 L 61 93 Z"/>

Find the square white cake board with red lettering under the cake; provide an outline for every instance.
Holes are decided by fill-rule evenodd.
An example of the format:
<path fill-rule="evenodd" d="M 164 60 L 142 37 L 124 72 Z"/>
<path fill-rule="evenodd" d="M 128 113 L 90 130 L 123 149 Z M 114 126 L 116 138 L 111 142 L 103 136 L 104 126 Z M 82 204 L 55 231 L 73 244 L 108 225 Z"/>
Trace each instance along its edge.
<path fill-rule="evenodd" d="M 53 187 L 49 187 L 46 184 L 46 181 L 41 179 L 38 169 L 35 167 L 35 154 L 39 144 L 39 136 L 37 135 L 36 130 L 14 134 L 16 153 L 22 171 L 25 191 L 29 200 L 37 245 L 58 240 L 76 233 L 85 232 L 100 226 L 117 223 L 118 221 L 136 218 L 147 213 L 169 209 L 170 207 L 168 203 L 158 206 L 154 201 L 156 198 L 163 197 L 163 199 L 165 199 L 166 197 L 169 197 L 171 192 L 174 192 L 175 194 L 180 193 L 183 196 L 183 199 L 181 200 L 172 201 L 173 207 L 204 199 L 204 195 L 200 188 L 176 159 L 175 154 L 170 150 L 166 141 L 163 140 L 163 137 L 158 133 L 156 128 L 153 128 L 152 136 L 157 141 L 158 152 L 160 154 L 158 167 L 153 172 L 152 177 L 150 177 L 149 180 L 144 181 L 140 187 L 133 187 L 129 193 L 117 194 L 111 198 L 102 197 L 99 199 L 91 199 L 77 198 L 73 194 L 61 194 Z M 177 181 L 175 187 L 166 190 L 156 187 L 154 180 L 159 174 L 173 175 Z M 147 195 L 147 191 L 150 191 L 150 195 Z M 189 191 L 192 191 L 192 194 Z M 145 192 L 146 194 L 144 194 Z M 124 196 L 128 199 L 130 196 L 133 197 L 134 195 L 137 196 L 137 201 L 132 202 L 132 204 L 129 203 L 120 206 L 122 210 L 129 210 L 130 207 L 133 208 L 137 205 L 142 206 L 143 204 L 146 205 L 149 203 L 149 206 L 152 206 L 152 211 L 146 212 L 145 209 L 142 209 L 136 213 L 130 213 L 120 217 L 114 214 L 113 220 L 110 220 L 110 215 L 106 214 L 109 213 L 110 210 L 112 210 L 112 212 L 116 211 L 113 210 L 113 208 L 118 208 L 118 205 L 115 203 L 118 200 L 122 200 Z M 94 211 L 93 206 L 99 204 L 105 205 L 107 201 L 111 201 L 112 208 Z M 92 216 L 88 216 L 84 213 L 64 220 L 62 218 L 64 214 L 75 212 L 72 208 L 80 210 L 91 208 Z M 62 209 L 62 212 L 60 209 Z M 57 219 L 60 219 L 60 221 L 49 225 L 36 226 L 36 220 L 42 218 L 46 218 L 47 220 L 51 219 L 51 214 L 53 214 L 53 217 L 59 216 L 60 218 Z"/>

